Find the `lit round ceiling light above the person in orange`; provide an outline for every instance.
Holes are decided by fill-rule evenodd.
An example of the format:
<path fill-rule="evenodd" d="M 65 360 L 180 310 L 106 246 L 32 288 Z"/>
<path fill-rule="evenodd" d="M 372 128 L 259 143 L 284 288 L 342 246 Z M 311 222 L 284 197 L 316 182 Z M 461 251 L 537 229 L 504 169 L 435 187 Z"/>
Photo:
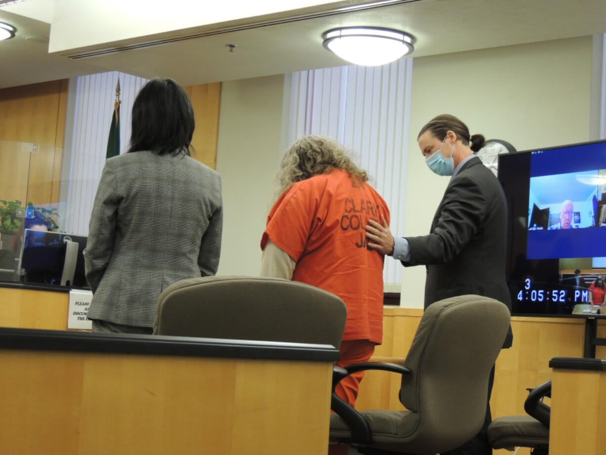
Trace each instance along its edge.
<path fill-rule="evenodd" d="M 393 62 L 415 50 L 415 38 L 399 30 L 379 27 L 344 27 L 322 35 L 322 45 L 348 62 L 379 66 Z"/>

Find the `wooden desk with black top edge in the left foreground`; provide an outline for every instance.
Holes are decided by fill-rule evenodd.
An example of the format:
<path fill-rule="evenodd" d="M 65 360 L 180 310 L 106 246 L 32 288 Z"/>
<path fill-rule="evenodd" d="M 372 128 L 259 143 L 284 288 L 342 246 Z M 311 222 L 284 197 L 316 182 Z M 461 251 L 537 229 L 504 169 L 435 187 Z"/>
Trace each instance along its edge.
<path fill-rule="evenodd" d="M 7 454 L 326 454 L 328 345 L 0 328 Z"/>

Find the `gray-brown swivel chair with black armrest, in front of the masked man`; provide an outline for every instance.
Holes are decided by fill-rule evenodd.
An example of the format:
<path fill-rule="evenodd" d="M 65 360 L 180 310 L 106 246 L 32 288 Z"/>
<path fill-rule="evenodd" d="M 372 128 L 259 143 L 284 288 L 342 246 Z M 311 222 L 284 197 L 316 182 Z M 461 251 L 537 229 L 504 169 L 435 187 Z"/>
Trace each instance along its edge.
<path fill-rule="evenodd" d="M 361 363 L 335 367 L 336 383 L 362 369 L 402 374 L 406 411 L 356 411 L 333 393 L 330 439 L 367 454 L 435 454 L 459 447 L 480 430 L 486 416 L 488 376 L 509 328 L 503 303 L 462 295 L 424 312 L 404 366 Z M 334 389 L 333 389 L 334 390 Z"/>

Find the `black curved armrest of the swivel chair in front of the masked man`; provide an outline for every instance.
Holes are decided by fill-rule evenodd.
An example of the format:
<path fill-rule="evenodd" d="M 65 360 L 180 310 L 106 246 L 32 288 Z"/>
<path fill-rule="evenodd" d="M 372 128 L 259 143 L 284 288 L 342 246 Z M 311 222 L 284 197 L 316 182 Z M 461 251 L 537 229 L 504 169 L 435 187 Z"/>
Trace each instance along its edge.
<path fill-rule="evenodd" d="M 333 367 L 333 393 L 330 399 L 330 408 L 335 411 L 347 426 L 349 426 L 351 430 L 351 440 L 352 442 L 358 443 L 370 443 L 372 442 L 372 437 L 370 435 L 370 426 L 368 426 L 368 422 L 364 419 L 364 416 L 360 414 L 356 409 L 352 408 L 347 402 L 342 400 L 335 393 L 335 388 L 342 379 L 349 376 L 352 373 L 358 371 L 365 371 L 367 369 L 380 369 L 383 371 L 391 371 L 396 373 L 410 373 L 412 370 L 402 365 L 396 365 L 395 363 L 354 363 L 353 365 L 345 366 L 342 368 L 341 366 Z"/>

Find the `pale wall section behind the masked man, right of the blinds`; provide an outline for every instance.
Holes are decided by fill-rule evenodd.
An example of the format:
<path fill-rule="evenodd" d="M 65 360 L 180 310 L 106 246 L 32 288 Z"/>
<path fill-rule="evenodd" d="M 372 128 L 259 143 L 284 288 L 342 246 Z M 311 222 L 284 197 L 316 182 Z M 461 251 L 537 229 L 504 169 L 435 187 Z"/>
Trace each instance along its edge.
<path fill-rule="evenodd" d="M 471 134 L 518 150 L 590 140 L 591 36 L 415 59 L 404 232 L 429 231 L 448 178 L 431 173 L 416 144 L 427 121 L 450 113 Z M 422 308 L 425 268 L 402 272 L 401 305 Z"/>

